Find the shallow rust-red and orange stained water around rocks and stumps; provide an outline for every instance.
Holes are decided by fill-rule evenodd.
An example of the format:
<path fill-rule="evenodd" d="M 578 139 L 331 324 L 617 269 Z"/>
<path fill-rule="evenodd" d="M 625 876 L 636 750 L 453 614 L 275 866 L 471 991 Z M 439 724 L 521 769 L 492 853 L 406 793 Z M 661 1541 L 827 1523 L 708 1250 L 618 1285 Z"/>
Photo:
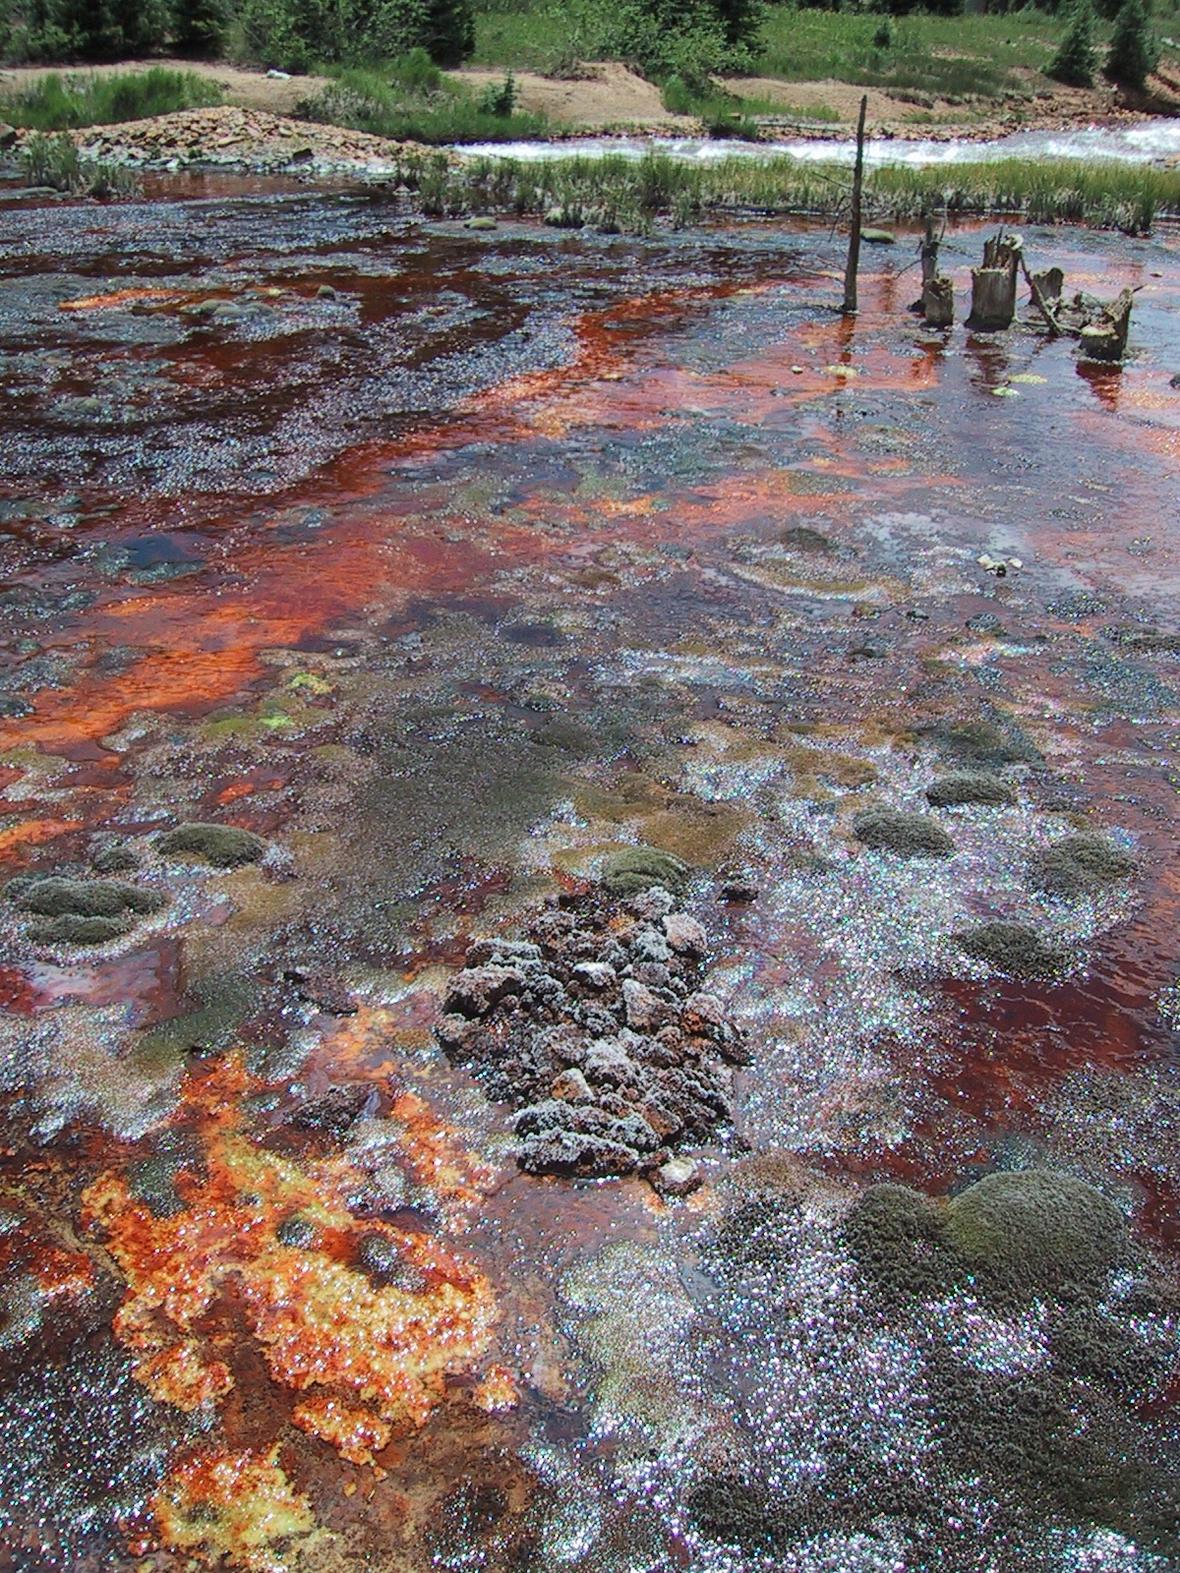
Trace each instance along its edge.
<path fill-rule="evenodd" d="M 909 244 L 842 318 L 806 225 L 3 236 L 0 851 L 140 892 L 0 917 L 3 1565 L 1180 1565 L 1174 238 L 1026 233 L 1139 291 L 1095 370 L 922 327 Z M 1079 832 L 1114 875 L 1031 881 Z M 632 845 L 747 1035 L 684 1200 L 522 1173 L 433 1035 Z M 1016 1291 L 928 1219 L 1029 1169 L 1114 1224 L 1034 1210 Z"/>

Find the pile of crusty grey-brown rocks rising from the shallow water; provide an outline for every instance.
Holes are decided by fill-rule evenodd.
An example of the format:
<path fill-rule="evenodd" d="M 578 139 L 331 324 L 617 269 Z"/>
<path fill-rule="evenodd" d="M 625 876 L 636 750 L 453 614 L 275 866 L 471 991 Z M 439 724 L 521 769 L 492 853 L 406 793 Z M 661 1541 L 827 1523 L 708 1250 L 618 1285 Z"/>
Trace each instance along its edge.
<path fill-rule="evenodd" d="M 705 931 L 653 886 L 562 895 L 525 941 L 480 939 L 437 1037 L 516 1107 L 530 1173 L 659 1169 L 732 1120 L 741 1033 L 705 983 Z"/>

